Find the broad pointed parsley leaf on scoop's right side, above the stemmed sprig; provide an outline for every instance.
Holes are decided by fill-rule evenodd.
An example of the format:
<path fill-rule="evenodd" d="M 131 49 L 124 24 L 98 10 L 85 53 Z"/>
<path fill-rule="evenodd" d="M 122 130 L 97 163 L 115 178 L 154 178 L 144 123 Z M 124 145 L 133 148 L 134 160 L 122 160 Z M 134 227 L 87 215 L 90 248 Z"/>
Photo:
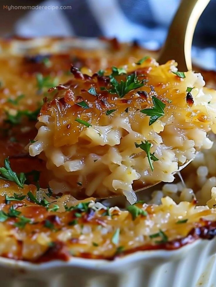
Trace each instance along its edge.
<path fill-rule="evenodd" d="M 156 122 L 157 119 L 165 115 L 164 108 L 166 105 L 155 96 L 152 97 L 152 101 L 154 105 L 152 108 L 140 110 L 141 113 L 150 116 L 149 125 L 152 125 L 154 122 Z"/>

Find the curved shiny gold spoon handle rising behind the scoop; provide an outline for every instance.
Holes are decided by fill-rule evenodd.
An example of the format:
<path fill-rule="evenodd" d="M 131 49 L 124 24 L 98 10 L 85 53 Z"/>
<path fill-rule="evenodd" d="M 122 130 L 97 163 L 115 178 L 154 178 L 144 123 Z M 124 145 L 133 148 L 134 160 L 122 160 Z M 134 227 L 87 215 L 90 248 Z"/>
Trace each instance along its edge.
<path fill-rule="evenodd" d="M 176 60 L 179 71 L 192 70 L 191 46 L 196 24 L 210 0 L 182 0 L 158 58 L 159 64 Z"/>

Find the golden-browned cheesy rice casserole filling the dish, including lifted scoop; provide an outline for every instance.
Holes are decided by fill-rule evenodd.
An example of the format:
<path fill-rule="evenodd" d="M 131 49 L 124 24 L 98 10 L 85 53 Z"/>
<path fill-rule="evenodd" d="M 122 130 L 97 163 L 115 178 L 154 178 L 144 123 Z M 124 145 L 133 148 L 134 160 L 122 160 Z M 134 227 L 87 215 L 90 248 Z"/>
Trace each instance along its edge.
<path fill-rule="evenodd" d="M 76 41 L 0 41 L 0 255 L 113 260 L 212 239 L 215 90 L 137 45 Z M 132 205 L 94 198 L 122 194 Z"/>

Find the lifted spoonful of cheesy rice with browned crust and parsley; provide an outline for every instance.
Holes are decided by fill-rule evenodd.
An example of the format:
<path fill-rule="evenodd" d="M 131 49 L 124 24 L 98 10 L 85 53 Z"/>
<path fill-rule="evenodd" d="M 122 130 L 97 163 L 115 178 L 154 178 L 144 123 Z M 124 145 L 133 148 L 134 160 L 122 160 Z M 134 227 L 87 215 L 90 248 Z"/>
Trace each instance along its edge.
<path fill-rule="evenodd" d="M 44 99 L 29 145 L 52 172 L 54 191 L 124 194 L 133 203 L 137 187 L 172 182 L 180 165 L 212 147 L 216 92 L 176 66 L 150 57 L 93 75 L 72 66 L 72 79 Z"/>

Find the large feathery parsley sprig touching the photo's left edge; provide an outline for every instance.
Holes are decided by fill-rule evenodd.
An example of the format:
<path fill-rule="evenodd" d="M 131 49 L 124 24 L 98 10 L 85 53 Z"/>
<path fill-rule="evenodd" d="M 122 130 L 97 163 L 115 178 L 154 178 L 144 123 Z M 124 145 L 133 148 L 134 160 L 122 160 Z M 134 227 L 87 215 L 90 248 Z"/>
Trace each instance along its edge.
<path fill-rule="evenodd" d="M 0 172 L 1 172 L 0 176 L 1 179 L 7 179 L 13 181 L 19 187 L 23 188 L 24 182 L 26 181 L 26 176 L 23 172 L 17 174 L 16 172 L 12 171 L 8 157 L 4 160 L 4 167 L 0 167 Z"/>

